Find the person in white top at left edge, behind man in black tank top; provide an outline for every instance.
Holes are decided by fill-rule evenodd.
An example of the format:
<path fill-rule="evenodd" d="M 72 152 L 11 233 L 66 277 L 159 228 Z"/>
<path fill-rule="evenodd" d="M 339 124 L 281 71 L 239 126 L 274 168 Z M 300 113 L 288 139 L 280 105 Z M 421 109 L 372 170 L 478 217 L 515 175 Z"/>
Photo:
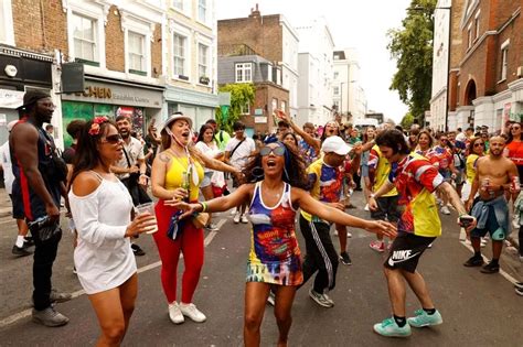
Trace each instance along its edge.
<path fill-rule="evenodd" d="M 14 124 L 18 123 L 18 120 L 13 120 L 8 123 L 8 132 L 11 132 Z M 11 164 L 11 153 L 9 150 L 9 141 L 6 141 L 0 147 L 0 167 L 3 170 L 3 183 L 6 186 L 6 192 L 9 194 L 9 197 L 12 199 L 12 188 L 14 182 L 14 175 Z M 18 237 L 17 241 L 14 242 L 12 253 L 17 257 L 25 257 L 30 256 L 33 252 L 28 250 L 29 247 L 33 246 L 32 239 L 28 238 L 28 224 L 25 223 L 24 215 L 23 215 L 23 206 L 19 206 L 20 204 L 13 203 L 13 218 L 17 219 L 17 227 L 18 227 Z"/>

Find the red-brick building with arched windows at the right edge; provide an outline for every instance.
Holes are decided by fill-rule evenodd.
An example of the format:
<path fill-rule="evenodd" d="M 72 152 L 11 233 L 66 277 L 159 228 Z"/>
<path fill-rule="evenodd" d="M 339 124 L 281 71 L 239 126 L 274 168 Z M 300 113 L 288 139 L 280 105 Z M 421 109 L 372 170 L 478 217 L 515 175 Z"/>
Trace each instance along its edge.
<path fill-rule="evenodd" d="M 522 0 L 468 0 L 459 71 L 450 78 L 449 124 L 499 130 L 523 116 Z"/>

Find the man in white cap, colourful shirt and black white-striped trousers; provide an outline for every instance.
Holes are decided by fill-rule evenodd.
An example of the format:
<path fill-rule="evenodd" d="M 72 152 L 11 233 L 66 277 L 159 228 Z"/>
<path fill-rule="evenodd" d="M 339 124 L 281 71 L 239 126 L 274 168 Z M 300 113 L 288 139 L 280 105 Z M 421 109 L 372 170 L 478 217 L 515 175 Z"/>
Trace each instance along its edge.
<path fill-rule="evenodd" d="M 343 193 L 343 171 L 341 170 L 351 147 L 340 137 L 329 137 L 323 141 L 323 158 L 307 169 L 311 183 L 310 195 L 332 207 L 345 209 L 340 203 Z M 316 273 L 309 296 L 323 307 L 334 306 L 325 292 L 334 289 L 338 269 L 338 252 L 330 236 L 331 224 L 317 216 L 301 212 L 300 229 L 306 241 L 307 254 L 303 262 L 303 284 Z"/>

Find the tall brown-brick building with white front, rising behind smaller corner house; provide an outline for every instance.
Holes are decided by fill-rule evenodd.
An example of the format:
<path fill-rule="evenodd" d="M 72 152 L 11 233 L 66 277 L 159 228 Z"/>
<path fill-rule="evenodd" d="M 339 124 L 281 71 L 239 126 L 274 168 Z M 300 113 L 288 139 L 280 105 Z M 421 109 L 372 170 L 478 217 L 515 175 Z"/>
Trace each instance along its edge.
<path fill-rule="evenodd" d="M 247 18 L 217 21 L 217 31 L 218 56 L 256 54 L 281 71 L 281 86 L 289 90 L 288 111 L 296 117 L 299 40 L 289 21 L 282 14 L 262 15 L 256 6 Z"/>

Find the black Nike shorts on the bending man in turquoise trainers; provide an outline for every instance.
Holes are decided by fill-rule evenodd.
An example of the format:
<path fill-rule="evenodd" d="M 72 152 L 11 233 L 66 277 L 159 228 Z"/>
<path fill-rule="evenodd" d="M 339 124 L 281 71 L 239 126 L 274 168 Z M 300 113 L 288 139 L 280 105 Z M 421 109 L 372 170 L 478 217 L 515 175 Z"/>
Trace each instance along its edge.
<path fill-rule="evenodd" d="M 435 239 L 435 237 L 398 232 L 384 265 L 388 269 L 402 269 L 414 273 L 418 265 L 419 257 L 421 257 L 423 252 Z"/>

